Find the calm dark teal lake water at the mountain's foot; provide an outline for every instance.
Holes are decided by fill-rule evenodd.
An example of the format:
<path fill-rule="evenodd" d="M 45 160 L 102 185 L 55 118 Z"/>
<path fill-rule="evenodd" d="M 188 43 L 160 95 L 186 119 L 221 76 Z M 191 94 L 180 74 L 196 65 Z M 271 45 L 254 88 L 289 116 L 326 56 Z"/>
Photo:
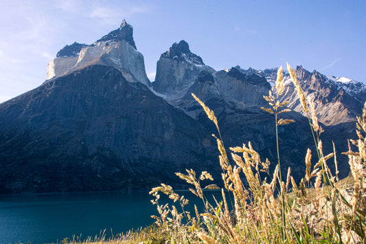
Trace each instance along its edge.
<path fill-rule="evenodd" d="M 0 243 L 60 243 L 153 223 L 148 192 L 88 192 L 0 197 Z"/>

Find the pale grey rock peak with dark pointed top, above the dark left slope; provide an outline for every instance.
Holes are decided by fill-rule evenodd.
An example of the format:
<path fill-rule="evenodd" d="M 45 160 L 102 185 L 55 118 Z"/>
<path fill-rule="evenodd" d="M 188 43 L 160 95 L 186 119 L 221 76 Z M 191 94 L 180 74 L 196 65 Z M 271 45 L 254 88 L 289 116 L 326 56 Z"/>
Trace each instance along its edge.
<path fill-rule="evenodd" d="M 133 27 L 125 20 L 117 30 L 91 45 L 73 43 L 62 48 L 57 57 L 49 62 L 47 80 L 89 65 L 112 66 L 121 71 L 129 82 L 150 85 L 146 76 L 144 56 L 137 52 L 133 40 Z"/>

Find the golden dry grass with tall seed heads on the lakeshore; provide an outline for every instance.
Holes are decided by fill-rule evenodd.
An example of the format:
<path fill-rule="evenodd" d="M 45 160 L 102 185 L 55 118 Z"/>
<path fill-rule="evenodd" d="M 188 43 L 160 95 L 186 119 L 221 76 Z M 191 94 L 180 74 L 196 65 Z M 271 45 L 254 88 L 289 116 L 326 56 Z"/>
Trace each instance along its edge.
<path fill-rule="evenodd" d="M 290 168 L 282 172 L 280 167 L 277 128 L 294 122 L 280 118 L 282 113 L 290 111 L 286 109 L 288 101 L 282 98 L 284 80 L 281 68 L 273 93 L 270 91 L 264 97 L 270 107 L 262 108 L 275 115 L 277 164 L 273 172 L 269 169 L 270 162 L 262 160 L 250 142 L 227 151 L 214 111 L 192 94 L 216 125 L 218 134 L 213 136 L 220 151 L 225 186 L 219 189 L 222 197 L 215 198 L 214 204 L 205 198 L 205 188 L 201 185 L 203 181 L 213 180 L 206 171 L 200 174 L 193 170 L 176 173 L 203 201 L 203 212 L 198 212 L 196 206 L 194 212 L 187 211 L 189 201 L 171 186 L 161 184 L 150 191 L 150 195 L 155 196 L 152 204 L 159 212 L 159 216 L 152 216 L 156 220 L 155 227 L 121 234 L 110 240 L 71 243 L 366 243 L 366 103 L 363 116 L 356 122 L 358 140 L 350 140 L 349 151 L 344 153 L 349 157 L 350 177 L 339 180 L 335 148 L 334 153 L 323 155 L 323 129 L 317 122 L 314 104 L 306 98 L 289 65 L 288 71 L 317 148 L 315 152 L 308 149 L 304 155 L 306 172 L 299 184 L 291 177 Z M 317 161 L 314 166 L 311 158 Z M 335 173 L 328 167 L 330 161 L 335 164 Z M 263 174 L 267 175 L 264 179 Z M 244 179 L 249 188 L 244 187 Z M 218 189 L 218 186 L 211 184 L 207 188 Z M 160 204 L 161 194 L 168 195 L 175 204 Z"/>

